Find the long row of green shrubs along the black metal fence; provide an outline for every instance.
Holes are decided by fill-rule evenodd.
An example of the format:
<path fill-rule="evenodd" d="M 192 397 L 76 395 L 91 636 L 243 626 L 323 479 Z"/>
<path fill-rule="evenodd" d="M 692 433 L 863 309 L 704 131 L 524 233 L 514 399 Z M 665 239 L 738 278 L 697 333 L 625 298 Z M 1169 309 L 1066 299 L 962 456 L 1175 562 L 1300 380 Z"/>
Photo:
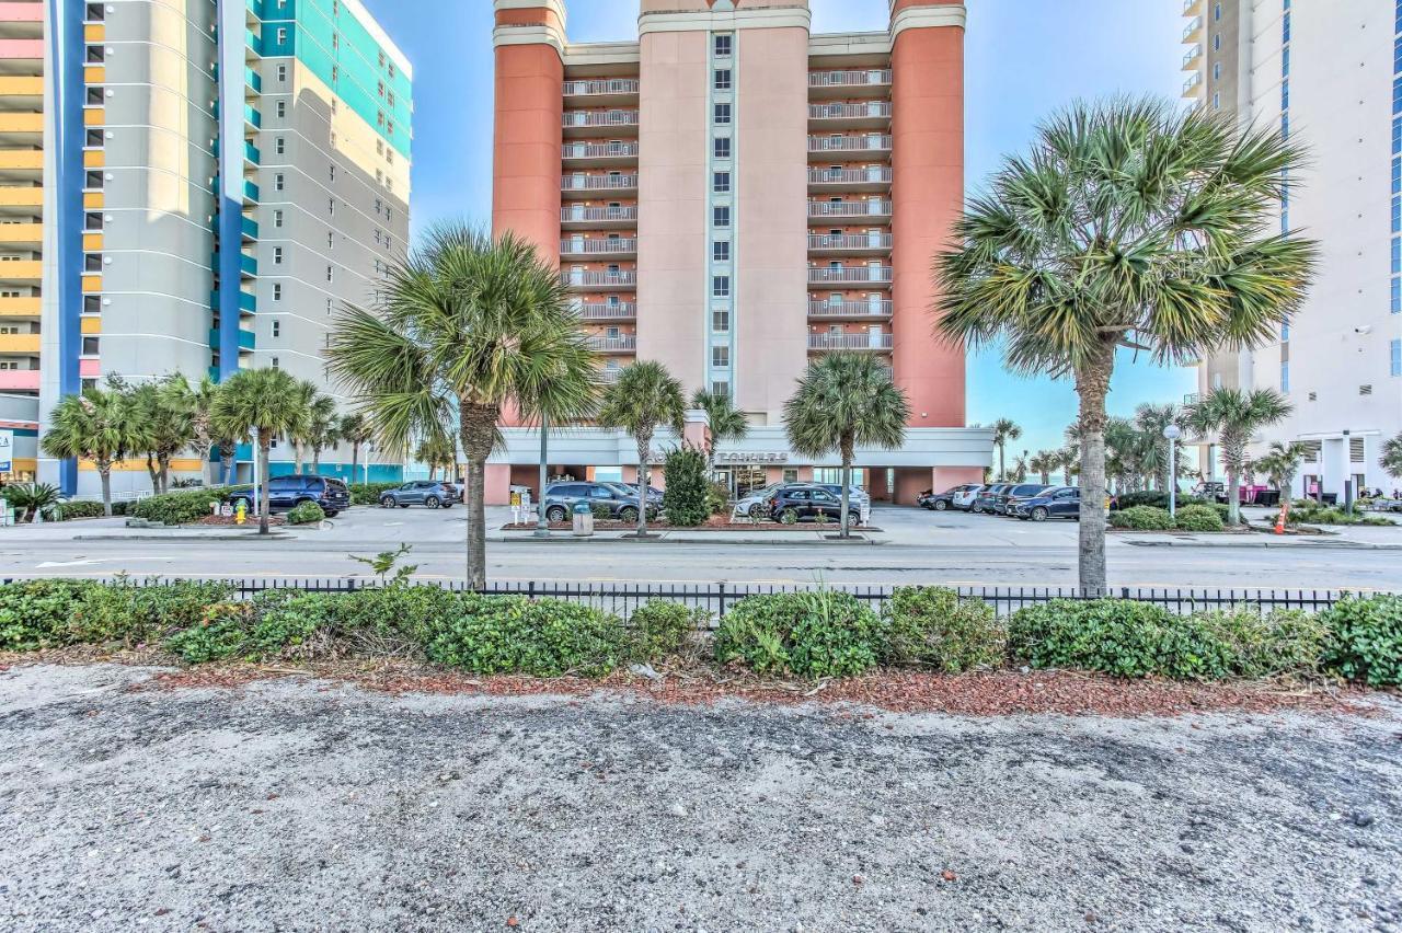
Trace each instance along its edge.
<path fill-rule="evenodd" d="M 629 675 L 704 682 L 707 695 L 723 693 L 725 684 L 740 693 L 798 684 L 792 689 L 806 693 L 808 682 L 815 691 L 836 685 L 829 695 L 843 696 L 859 684 L 878 705 L 931 684 L 955 693 L 1025 692 L 1019 668 L 1059 685 L 1053 693 L 1064 693 L 1071 677 L 1088 696 L 1123 692 L 1131 681 L 1178 693 L 1227 684 L 1221 696 L 1245 688 L 1252 702 L 1269 692 L 1266 682 L 1402 685 L 1396 595 L 1345 597 L 1319 614 L 1251 605 L 1176 614 L 1129 600 L 1057 600 L 1000 619 L 991 605 L 952 590 L 897 588 L 876 611 L 854 594 L 815 588 L 750 595 L 718 621 L 655 600 L 627 622 L 576 601 L 404 583 L 234 597 L 230 586 L 193 581 L 0 586 L 0 651 L 21 661 L 67 653 L 219 665 L 224 675 L 346 664 L 393 671 L 407 688 L 414 678 L 442 684 L 454 674 L 541 678 L 517 679 L 513 692 L 550 692 L 558 682 L 548 678 L 572 678 L 566 689 L 579 689 Z M 1213 703 L 1211 689 L 1202 705 Z M 987 705 L 998 707 L 995 699 Z"/>

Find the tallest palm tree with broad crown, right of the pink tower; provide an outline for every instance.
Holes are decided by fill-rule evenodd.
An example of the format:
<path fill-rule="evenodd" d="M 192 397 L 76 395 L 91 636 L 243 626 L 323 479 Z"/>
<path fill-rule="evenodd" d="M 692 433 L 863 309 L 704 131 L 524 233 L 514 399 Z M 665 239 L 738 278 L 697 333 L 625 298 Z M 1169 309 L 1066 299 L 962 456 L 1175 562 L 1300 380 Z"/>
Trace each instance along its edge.
<path fill-rule="evenodd" d="M 1105 398 L 1120 347 L 1159 364 L 1270 340 L 1316 245 L 1269 234 L 1302 151 L 1274 129 L 1171 101 L 1077 104 L 970 200 L 938 258 L 938 331 L 1075 381 L 1080 583 L 1105 573 Z"/>

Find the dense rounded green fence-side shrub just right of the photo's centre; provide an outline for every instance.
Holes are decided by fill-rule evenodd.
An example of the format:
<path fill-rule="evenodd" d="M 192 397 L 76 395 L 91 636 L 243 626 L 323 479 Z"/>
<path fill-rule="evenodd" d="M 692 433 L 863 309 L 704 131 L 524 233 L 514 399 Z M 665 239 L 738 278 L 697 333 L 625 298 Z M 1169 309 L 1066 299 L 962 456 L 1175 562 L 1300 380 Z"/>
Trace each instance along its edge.
<path fill-rule="evenodd" d="M 880 621 L 857 597 L 833 590 L 740 600 L 715 637 L 716 660 L 760 674 L 847 677 L 876 665 Z"/>

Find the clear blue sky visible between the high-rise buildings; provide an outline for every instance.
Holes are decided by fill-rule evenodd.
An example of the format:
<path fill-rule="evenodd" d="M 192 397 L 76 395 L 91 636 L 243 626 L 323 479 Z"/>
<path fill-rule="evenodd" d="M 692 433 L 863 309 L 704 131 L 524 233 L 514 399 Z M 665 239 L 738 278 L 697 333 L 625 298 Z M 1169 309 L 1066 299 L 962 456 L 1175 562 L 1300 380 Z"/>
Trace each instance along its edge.
<path fill-rule="evenodd" d="M 492 205 L 491 0 L 365 0 L 414 63 L 414 221 L 444 217 L 485 224 Z M 813 29 L 879 29 L 887 0 L 810 0 Z M 569 38 L 627 39 L 634 0 L 568 0 Z M 966 164 L 969 191 L 1000 158 L 1026 147 L 1036 122 L 1075 98 L 1176 97 L 1183 74 L 1182 0 L 969 0 Z M 1196 381 L 1124 356 L 1110 409 L 1180 402 Z M 969 420 L 1012 417 L 1016 450 L 1060 445 L 1075 416 L 1067 381 L 1002 371 L 995 353 L 970 360 Z M 1009 451 L 1011 452 L 1011 451 Z"/>

